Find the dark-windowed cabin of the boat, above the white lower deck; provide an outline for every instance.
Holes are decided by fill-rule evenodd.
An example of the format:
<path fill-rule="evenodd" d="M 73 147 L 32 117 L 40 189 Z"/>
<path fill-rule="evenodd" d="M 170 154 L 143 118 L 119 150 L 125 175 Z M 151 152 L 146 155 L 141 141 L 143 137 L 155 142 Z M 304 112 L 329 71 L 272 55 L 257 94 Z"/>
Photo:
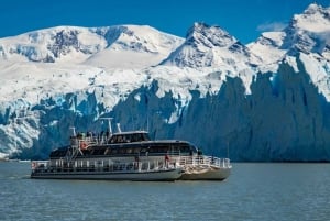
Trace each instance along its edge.
<path fill-rule="evenodd" d="M 82 144 L 87 140 L 78 141 Z M 184 155 L 189 156 L 198 153 L 196 146 L 186 141 L 152 141 L 145 131 L 114 133 L 105 143 L 94 143 L 88 146 L 80 146 L 77 157 L 125 157 L 125 156 L 163 156 Z M 66 146 L 54 150 L 51 158 L 61 158 L 70 155 L 74 146 Z"/>

